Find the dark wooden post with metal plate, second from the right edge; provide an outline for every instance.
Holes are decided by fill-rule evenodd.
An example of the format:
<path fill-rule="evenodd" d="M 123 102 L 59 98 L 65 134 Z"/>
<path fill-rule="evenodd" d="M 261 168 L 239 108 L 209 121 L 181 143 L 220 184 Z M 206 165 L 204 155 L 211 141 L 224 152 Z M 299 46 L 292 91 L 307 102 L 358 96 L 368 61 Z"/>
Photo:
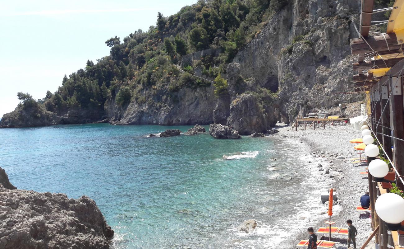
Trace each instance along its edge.
<path fill-rule="evenodd" d="M 381 121 L 382 121 L 382 131 L 383 134 L 391 136 L 390 129 L 390 104 L 387 102 L 389 98 L 389 87 L 387 85 L 382 85 L 380 88 L 380 106 L 381 106 Z M 384 111 L 383 111 L 384 110 Z M 387 156 L 393 160 L 393 152 L 391 151 L 391 138 L 388 136 L 383 136 L 383 149 L 386 151 Z"/>

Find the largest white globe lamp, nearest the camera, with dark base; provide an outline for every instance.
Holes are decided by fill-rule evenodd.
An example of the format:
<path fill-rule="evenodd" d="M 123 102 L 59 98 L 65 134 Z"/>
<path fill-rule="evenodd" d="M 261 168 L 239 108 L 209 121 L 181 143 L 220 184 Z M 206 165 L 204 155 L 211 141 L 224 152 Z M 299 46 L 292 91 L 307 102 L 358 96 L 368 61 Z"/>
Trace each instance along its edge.
<path fill-rule="evenodd" d="M 375 211 L 392 231 L 402 230 L 404 221 L 404 199 L 398 194 L 386 193 L 377 198 Z"/>

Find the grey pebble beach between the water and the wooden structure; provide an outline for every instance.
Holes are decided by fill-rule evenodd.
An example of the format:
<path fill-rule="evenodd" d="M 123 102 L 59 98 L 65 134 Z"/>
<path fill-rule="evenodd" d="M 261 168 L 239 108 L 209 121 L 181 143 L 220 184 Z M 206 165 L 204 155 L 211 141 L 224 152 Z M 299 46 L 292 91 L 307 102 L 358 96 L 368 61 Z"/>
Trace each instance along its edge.
<path fill-rule="evenodd" d="M 351 219 L 353 226 L 356 226 L 358 230 L 356 247 L 360 248 L 372 232 L 371 219 L 360 218 L 360 214 L 364 212 L 355 210 L 356 206 L 360 205 L 360 197 L 364 192 L 368 191 L 368 178 L 359 175 L 359 172 L 364 171 L 366 165 L 353 166 L 349 161 L 349 158 L 356 155 L 353 149 L 354 144 L 350 144 L 349 140 L 361 137 L 360 131 L 353 130 L 350 125 L 327 126 L 325 130 L 304 130 L 299 127 L 297 131 L 295 131 L 291 126 L 278 123 L 275 128 L 279 130 L 279 133 L 276 135 L 279 141 L 286 143 L 289 143 L 291 140 L 299 141 L 298 143 L 302 143 L 304 148 L 307 148 L 307 151 L 303 153 L 304 156 L 301 157 L 303 170 L 305 167 L 309 166 L 309 169 L 316 171 L 315 174 L 318 175 L 318 178 L 326 183 L 326 187 L 334 187 L 337 189 L 338 203 L 333 208 L 334 214 L 331 220 L 335 221 L 334 226 L 346 228 L 346 220 Z M 320 163 L 323 166 L 323 171 L 319 171 L 320 168 L 317 168 L 318 164 L 312 162 L 314 161 L 312 160 L 313 158 L 320 158 L 320 161 L 323 162 Z M 303 163 L 303 161 L 305 161 L 305 163 Z M 329 169 L 330 174 L 326 175 L 324 172 L 326 172 L 327 169 Z M 331 175 L 334 177 L 330 178 Z M 310 184 L 311 182 L 306 183 Z M 316 192 L 318 185 L 314 185 L 313 189 L 314 192 Z M 326 191 L 326 189 L 321 190 Z M 328 220 L 328 215 L 326 215 L 328 206 L 321 203 L 319 195 L 313 197 L 316 201 L 314 204 L 320 204 L 323 207 L 317 212 L 318 221 L 314 219 L 314 222 L 307 223 L 307 228 L 312 226 L 316 232 L 318 228 L 327 226 L 324 221 Z M 293 224 L 290 224 L 290 226 L 293 228 Z M 321 239 L 321 235 L 317 235 L 318 239 Z M 283 240 L 277 248 L 297 248 L 297 243 L 307 238 L 306 229 L 299 229 L 289 236 L 289 238 Z M 331 238 L 332 241 L 336 242 L 336 249 L 347 248 L 347 236 L 331 235 Z M 328 235 L 325 235 L 324 239 L 328 240 Z M 374 246 L 374 238 L 366 248 L 370 248 L 372 245 Z"/>

